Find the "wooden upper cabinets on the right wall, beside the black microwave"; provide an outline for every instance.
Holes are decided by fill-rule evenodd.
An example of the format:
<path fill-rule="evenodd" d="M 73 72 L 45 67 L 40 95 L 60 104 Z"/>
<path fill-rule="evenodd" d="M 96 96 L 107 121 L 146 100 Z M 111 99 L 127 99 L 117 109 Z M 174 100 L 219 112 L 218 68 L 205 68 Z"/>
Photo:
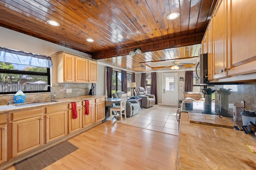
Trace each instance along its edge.
<path fill-rule="evenodd" d="M 255 6 L 254 0 L 218 0 L 202 40 L 210 82 L 255 79 Z"/>

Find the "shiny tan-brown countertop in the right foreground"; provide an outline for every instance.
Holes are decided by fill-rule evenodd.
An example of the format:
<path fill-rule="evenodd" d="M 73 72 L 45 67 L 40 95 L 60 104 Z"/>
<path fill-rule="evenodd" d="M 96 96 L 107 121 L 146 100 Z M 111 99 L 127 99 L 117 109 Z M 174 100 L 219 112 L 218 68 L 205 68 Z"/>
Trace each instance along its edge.
<path fill-rule="evenodd" d="M 186 112 L 180 123 L 175 169 L 256 169 L 256 153 L 246 147 L 256 147 L 254 133 L 191 123 Z"/>

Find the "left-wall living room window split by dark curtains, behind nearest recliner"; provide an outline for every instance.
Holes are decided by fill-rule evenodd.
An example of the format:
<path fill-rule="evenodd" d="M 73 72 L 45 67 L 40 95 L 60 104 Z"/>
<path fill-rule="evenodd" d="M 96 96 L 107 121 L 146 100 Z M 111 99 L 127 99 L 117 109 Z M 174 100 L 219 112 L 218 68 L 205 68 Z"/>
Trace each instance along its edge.
<path fill-rule="evenodd" d="M 127 82 L 132 82 L 132 74 L 127 73 Z M 121 72 L 114 71 L 112 74 L 112 93 L 121 91 Z M 128 95 L 131 94 L 131 88 L 127 89 Z"/>

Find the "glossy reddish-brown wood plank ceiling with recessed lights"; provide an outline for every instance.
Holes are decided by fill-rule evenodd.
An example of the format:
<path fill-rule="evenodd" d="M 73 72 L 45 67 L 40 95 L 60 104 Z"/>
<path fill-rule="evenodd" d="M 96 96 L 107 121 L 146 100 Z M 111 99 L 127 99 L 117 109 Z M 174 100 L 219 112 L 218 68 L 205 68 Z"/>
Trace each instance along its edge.
<path fill-rule="evenodd" d="M 1 0 L 0 26 L 88 53 L 93 59 L 135 72 L 170 70 L 166 65 L 152 66 L 149 62 L 198 56 L 198 44 L 216 2 Z M 179 18 L 168 20 L 170 12 L 179 12 Z M 60 26 L 51 26 L 47 20 L 58 21 Z M 86 41 L 88 38 L 94 42 Z M 137 47 L 142 54 L 130 57 L 129 52 Z M 194 64 L 187 64 L 183 68 L 193 67 Z"/>

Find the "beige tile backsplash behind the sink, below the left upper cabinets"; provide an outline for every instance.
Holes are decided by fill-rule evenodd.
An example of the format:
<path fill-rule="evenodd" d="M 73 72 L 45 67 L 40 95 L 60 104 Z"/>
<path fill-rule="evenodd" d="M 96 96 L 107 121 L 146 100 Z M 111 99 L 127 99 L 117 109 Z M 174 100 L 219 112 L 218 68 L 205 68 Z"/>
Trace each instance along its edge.
<path fill-rule="evenodd" d="M 92 83 L 52 83 L 52 96 L 56 94 L 56 99 L 70 98 L 76 96 L 89 95 Z M 96 84 L 94 83 L 95 89 Z M 72 89 L 71 93 L 67 93 L 67 89 Z M 95 92 L 95 94 L 97 94 Z M 50 100 L 51 93 L 25 93 L 26 102 L 35 102 L 42 100 Z M 14 99 L 14 94 L 0 95 L 0 105 L 6 105 L 8 101 Z"/>

